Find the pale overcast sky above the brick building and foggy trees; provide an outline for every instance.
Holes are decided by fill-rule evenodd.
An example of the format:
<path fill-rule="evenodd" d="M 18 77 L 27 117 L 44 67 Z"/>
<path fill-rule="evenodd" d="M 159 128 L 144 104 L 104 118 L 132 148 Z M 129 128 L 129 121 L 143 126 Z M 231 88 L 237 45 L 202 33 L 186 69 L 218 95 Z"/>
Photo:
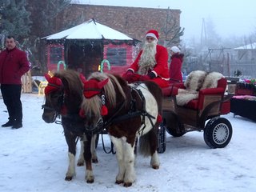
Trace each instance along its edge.
<path fill-rule="evenodd" d="M 255 0 L 74 0 L 91 5 L 136 6 L 182 11 L 184 38 L 200 38 L 202 18 L 214 23 L 217 34 L 226 38 L 248 36 L 256 30 Z"/>

